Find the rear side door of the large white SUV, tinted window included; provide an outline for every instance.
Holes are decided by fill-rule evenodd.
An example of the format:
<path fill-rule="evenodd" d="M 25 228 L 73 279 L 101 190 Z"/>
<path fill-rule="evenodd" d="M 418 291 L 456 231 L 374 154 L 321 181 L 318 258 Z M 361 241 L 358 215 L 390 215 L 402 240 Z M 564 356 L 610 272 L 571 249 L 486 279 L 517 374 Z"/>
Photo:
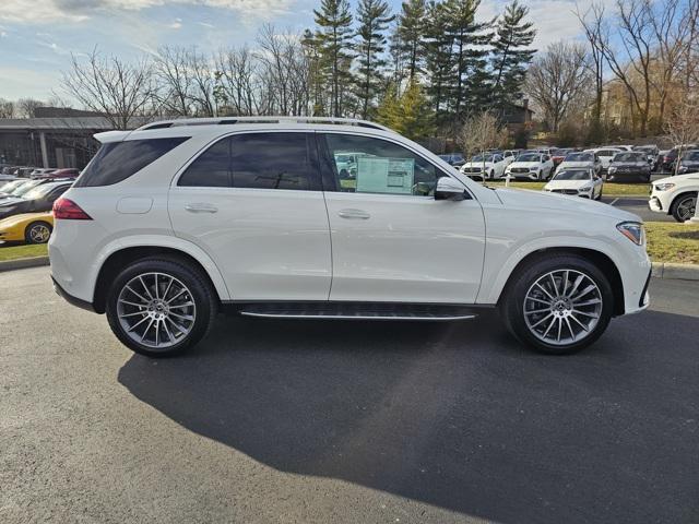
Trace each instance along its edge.
<path fill-rule="evenodd" d="M 209 253 L 235 300 L 327 300 L 330 230 L 312 133 L 235 134 L 208 152 L 170 189 L 176 235 Z"/>

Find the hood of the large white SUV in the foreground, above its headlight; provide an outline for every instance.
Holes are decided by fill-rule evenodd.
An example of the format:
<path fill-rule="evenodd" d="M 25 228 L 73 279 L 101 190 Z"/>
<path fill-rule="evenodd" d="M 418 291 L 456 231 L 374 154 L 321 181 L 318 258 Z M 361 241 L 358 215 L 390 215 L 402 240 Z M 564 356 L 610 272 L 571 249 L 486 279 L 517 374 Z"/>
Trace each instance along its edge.
<path fill-rule="evenodd" d="M 584 217 L 597 215 L 618 222 L 643 222 L 640 216 L 619 210 L 609 204 L 594 200 L 564 196 L 556 193 L 533 191 L 531 189 L 501 189 L 496 190 L 500 201 L 508 206 L 528 207 L 536 211 L 553 211 L 570 213 Z"/>

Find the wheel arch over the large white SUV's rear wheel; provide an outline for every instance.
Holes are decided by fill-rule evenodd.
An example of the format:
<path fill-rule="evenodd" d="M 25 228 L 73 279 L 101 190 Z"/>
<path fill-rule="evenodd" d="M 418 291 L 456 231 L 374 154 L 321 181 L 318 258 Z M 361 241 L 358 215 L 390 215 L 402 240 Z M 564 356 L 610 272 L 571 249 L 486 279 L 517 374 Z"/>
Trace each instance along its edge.
<path fill-rule="evenodd" d="M 119 271 L 138 260 L 151 257 L 175 259 L 196 267 L 206 278 L 218 301 L 228 299 L 228 290 L 213 261 L 206 257 L 202 262 L 197 254 L 199 253 L 174 246 L 137 245 L 116 249 L 105 258 L 97 273 L 93 293 L 94 310 L 97 313 L 105 312 L 109 284 L 114 282 Z"/>

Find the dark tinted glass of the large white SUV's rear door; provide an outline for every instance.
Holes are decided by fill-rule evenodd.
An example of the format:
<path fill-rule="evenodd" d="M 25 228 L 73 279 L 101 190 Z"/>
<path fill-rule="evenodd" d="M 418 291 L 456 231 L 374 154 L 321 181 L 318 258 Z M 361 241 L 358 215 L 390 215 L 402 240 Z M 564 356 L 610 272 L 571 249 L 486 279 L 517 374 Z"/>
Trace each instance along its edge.
<path fill-rule="evenodd" d="M 311 190 L 319 187 L 308 133 L 249 133 L 220 140 L 178 186 Z"/>

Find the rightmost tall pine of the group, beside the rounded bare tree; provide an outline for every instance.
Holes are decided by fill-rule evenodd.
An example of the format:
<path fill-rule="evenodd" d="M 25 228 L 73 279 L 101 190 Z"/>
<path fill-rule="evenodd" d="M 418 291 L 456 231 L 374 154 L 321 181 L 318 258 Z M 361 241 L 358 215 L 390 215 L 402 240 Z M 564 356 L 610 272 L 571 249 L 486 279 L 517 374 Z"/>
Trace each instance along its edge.
<path fill-rule="evenodd" d="M 493 41 L 493 96 L 494 106 L 500 114 L 522 96 L 526 67 L 536 52 L 529 48 L 536 29 L 532 22 L 524 21 L 528 14 L 529 8 L 513 0 L 497 22 Z"/>

